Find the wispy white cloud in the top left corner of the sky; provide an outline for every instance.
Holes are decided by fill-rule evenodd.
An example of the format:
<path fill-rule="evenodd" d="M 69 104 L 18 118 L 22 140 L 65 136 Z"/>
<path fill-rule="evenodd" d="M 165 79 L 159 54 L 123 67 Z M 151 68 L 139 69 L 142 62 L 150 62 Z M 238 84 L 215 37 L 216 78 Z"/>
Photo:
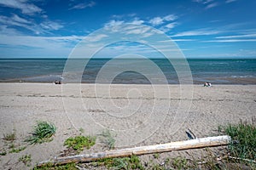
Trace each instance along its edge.
<path fill-rule="evenodd" d="M 43 11 L 42 8 L 27 2 L 27 0 L 1 0 L 0 5 L 9 8 L 18 8 L 23 14 L 35 14 Z"/>

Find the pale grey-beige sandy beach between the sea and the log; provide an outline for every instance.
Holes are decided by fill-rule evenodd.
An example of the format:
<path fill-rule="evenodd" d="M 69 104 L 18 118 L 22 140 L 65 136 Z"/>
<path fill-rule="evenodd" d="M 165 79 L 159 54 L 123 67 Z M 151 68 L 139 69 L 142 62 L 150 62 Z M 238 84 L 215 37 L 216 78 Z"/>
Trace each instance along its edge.
<path fill-rule="evenodd" d="M 30 169 L 19 161 L 31 154 L 32 166 L 61 154 L 68 137 L 97 135 L 112 130 L 117 148 L 160 144 L 188 139 L 190 128 L 197 137 L 212 136 L 218 125 L 251 121 L 256 111 L 256 85 L 96 85 L 49 83 L 0 83 L 0 135 L 15 129 L 15 145 L 24 139 L 37 121 L 53 122 L 57 127 L 53 141 L 27 145 L 20 153 L 0 157 L 0 168 Z M 193 94 L 193 95 L 192 95 Z M 9 143 L 0 139 L 1 151 Z M 90 153 L 106 150 L 100 140 Z M 177 156 L 179 153 L 166 153 Z M 147 156 L 143 159 L 149 160 Z"/>

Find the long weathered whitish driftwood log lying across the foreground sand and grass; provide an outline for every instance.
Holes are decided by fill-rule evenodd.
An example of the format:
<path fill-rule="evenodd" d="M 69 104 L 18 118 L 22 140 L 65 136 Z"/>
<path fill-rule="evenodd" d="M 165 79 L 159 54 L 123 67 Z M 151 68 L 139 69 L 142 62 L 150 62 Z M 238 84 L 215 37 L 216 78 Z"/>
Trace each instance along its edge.
<path fill-rule="evenodd" d="M 92 153 L 88 155 L 77 155 L 67 157 L 55 157 L 55 159 L 42 161 L 38 163 L 38 167 L 42 167 L 44 164 L 52 163 L 54 165 L 61 165 L 70 162 L 88 162 L 97 161 L 103 158 L 123 157 L 131 155 L 145 155 L 160 152 L 167 152 L 173 150 L 189 150 L 203 147 L 212 147 L 219 145 L 229 144 L 231 141 L 230 136 L 216 136 L 207 137 L 201 139 L 191 139 L 179 142 L 171 142 L 167 144 L 155 144 L 148 146 L 139 146 L 134 148 L 126 148 L 121 150 L 108 150 L 100 153 Z"/>

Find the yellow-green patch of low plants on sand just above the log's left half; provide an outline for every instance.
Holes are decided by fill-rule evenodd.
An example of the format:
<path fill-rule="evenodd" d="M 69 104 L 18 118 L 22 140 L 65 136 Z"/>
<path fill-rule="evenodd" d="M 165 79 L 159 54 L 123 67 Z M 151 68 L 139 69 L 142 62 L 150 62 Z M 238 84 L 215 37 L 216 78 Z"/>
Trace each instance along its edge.
<path fill-rule="evenodd" d="M 67 145 L 68 148 L 73 148 L 77 152 L 84 150 L 84 147 L 90 149 L 91 146 L 96 144 L 96 137 L 93 136 L 76 136 L 74 138 L 68 138 L 64 145 Z"/>

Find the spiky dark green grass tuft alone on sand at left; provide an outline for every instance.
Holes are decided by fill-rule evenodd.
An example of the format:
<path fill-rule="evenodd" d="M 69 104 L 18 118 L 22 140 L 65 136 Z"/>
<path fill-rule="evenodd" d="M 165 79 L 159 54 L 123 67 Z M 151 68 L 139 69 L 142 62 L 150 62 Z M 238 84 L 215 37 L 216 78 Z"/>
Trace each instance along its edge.
<path fill-rule="evenodd" d="M 34 126 L 32 135 L 29 136 L 25 141 L 30 144 L 41 144 L 52 140 L 52 136 L 55 134 L 56 127 L 54 124 L 49 122 L 38 122 Z"/>

